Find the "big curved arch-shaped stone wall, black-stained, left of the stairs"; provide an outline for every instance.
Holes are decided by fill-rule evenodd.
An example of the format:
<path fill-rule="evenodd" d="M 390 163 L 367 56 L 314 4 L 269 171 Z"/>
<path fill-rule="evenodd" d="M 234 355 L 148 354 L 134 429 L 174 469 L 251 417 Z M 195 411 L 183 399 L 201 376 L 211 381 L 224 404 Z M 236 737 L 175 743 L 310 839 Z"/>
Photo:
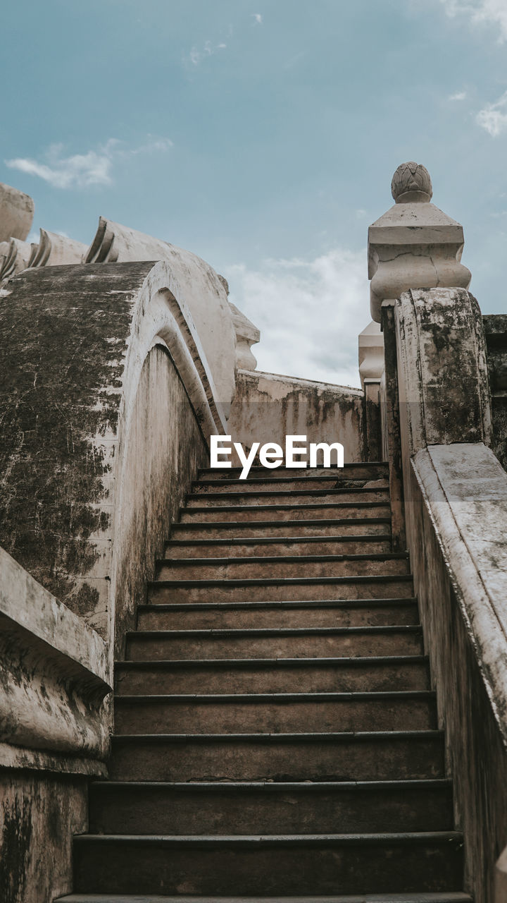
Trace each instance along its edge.
<path fill-rule="evenodd" d="M 149 576 L 147 526 L 161 554 L 206 462 L 200 431 L 223 432 L 184 293 L 165 264 L 44 267 L 0 309 L 0 541 L 105 637 Z"/>

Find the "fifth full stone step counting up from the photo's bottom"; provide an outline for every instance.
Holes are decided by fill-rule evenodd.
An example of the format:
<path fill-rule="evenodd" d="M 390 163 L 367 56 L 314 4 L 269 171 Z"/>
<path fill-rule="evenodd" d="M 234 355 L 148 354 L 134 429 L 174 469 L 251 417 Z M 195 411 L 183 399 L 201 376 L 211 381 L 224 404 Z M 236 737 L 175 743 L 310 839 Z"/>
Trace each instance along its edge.
<path fill-rule="evenodd" d="M 426 656 L 118 662 L 121 695 L 428 690 Z"/>

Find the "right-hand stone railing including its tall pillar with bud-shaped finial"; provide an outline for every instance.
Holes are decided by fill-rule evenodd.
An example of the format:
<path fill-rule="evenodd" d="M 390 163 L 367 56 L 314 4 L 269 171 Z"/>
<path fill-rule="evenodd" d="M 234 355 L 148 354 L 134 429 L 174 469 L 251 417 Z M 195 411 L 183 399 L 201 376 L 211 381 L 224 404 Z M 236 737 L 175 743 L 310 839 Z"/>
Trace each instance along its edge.
<path fill-rule="evenodd" d="M 397 171 L 405 188 L 414 175 L 425 182 L 423 168 L 407 165 Z M 397 183 L 401 210 L 378 220 L 370 235 L 377 275 L 372 312 L 384 340 L 383 447 L 394 545 L 410 551 L 446 730 L 466 889 L 475 903 L 491 903 L 496 881 L 500 903 L 505 865 L 495 861 L 507 842 L 507 473 L 491 449 L 484 325 L 459 263 L 461 227 L 435 213 L 429 177 L 425 183 L 425 197 Z M 501 368 L 487 332 L 491 378 L 492 368 L 497 376 Z"/>

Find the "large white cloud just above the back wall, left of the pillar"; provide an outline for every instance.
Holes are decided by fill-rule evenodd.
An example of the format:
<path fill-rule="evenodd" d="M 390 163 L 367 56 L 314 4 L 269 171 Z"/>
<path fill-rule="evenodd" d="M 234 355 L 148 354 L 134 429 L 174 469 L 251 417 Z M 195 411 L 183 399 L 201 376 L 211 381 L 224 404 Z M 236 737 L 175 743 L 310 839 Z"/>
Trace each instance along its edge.
<path fill-rule="evenodd" d="M 370 322 L 366 252 L 336 247 L 314 260 L 226 268 L 231 295 L 261 330 L 258 368 L 360 386 L 357 336 Z"/>

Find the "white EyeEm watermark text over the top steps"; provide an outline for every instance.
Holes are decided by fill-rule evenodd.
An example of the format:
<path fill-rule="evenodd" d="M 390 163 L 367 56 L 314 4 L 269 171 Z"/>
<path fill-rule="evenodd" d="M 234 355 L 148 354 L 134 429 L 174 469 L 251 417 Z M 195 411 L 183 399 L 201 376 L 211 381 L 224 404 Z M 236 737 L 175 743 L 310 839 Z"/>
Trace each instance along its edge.
<path fill-rule="evenodd" d="M 230 444 L 226 444 L 229 442 Z M 253 442 L 248 453 L 244 452 L 241 442 L 232 442 L 231 436 L 211 436 L 211 467 L 232 467 L 230 455 L 235 452 L 241 461 L 243 470 L 239 479 L 246 479 L 257 452 L 259 461 L 263 467 L 317 467 L 322 463 L 324 467 L 335 466 L 331 464 L 331 457 L 336 458 L 336 467 L 344 466 L 344 447 L 341 442 L 310 442 L 307 444 L 306 436 L 286 436 L 285 451 L 278 442 L 266 442 L 261 446 L 260 442 Z M 331 452 L 335 452 L 333 455 Z M 318 461 L 321 459 L 321 461 Z"/>

